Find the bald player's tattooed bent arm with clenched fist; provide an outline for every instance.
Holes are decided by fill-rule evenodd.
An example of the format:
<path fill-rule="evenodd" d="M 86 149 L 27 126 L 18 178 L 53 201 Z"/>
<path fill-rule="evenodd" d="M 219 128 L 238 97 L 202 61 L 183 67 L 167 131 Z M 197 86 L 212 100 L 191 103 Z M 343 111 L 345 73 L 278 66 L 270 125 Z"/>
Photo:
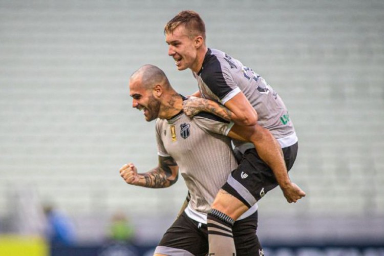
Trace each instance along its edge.
<path fill-rule="evenodd" d="M 142 187 L 169 187 L 176 183 L 178 175 L 179 166 L 172 157 L 159 156 L 159 165 L 146 173 L 138 174 L 133 163 L 120 168 L 120 176 L 126 183 Z"/>

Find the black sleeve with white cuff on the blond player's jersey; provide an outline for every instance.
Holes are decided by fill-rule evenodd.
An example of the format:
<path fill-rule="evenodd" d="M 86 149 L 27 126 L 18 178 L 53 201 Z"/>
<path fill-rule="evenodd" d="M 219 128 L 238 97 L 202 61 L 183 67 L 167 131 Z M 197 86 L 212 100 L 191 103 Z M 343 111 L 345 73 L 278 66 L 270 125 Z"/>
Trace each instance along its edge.
<path fill-rule="evenodd" d="M 216 64 L 204 70 L 201 75 L 209 90 L 219 97 L 220 103 L 223 105 L 241 92 L 228 69 L 229 67 L 226 65 L 216 62 Z"/>

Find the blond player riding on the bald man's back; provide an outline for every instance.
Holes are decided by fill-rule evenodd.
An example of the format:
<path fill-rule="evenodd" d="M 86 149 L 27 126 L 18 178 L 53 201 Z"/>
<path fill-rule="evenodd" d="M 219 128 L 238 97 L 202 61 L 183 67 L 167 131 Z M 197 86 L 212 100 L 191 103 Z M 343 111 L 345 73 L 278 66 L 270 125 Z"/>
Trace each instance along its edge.
<path fill-rule="evenodd" d="M 260 135 L 255 147 L 233 141 L 242 154 L 240 165 L 208 214 L 209 253 L 218 255 L 230 241 L 226 231 L 210 226 L 224 219 L 230 229 L 233 221 L 278 185 L 289 203 L 305 196 L 288 176 L 297 154 L 297 137 L 282 99 L 260 75 L 226 53 L 207 48 L 205 24 L 198 13 L 178 13 L 165 25 L 164 33 L 168 55 L 177 69 L 190 69 L 198 82 L 199 91 L 194 94 L 198 98 L 183 102 L 185 114 L 210 112 L 244 127 L 253 126 Z"/>

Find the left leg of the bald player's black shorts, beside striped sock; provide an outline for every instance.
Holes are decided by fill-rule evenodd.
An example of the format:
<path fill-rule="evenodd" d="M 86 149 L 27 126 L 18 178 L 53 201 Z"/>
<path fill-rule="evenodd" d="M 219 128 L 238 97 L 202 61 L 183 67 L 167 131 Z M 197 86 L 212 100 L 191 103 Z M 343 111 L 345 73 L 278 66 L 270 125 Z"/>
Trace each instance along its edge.
<path fill-rule="evenodd" d="M 208 253 L 208 233 L 206 225 L 191 220 L 184 212 L 168 228 L 158 248 L 165 250 L 156 252 L 187 251 L 193 255 L 205 256 Z M 171 253 L 172 254 L 172 253 Z M 181 255 L 181 254 L 180 254 Z M 187 254 L 185 254 L 187 255 Z"/>

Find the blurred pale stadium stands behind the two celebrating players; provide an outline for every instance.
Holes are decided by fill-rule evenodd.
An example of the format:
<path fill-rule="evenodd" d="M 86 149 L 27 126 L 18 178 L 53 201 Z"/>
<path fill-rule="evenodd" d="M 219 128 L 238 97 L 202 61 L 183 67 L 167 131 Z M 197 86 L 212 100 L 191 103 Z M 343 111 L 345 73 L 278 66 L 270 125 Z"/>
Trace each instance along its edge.
<path fill-rule="evenodd" d="M 307 197 L 288 204 L 276 188 L 259 202 L 266 255 L 384 255 L 381 0 L 0 0 L 0 255 L 152 255 L 187 190 L 119 176 L 157 165 L 155 123 L 132 109 L 128 81 L 151 63 L 197 90 L 163 34 L 187 9 L 296 128 L 290 176 Z"/>

